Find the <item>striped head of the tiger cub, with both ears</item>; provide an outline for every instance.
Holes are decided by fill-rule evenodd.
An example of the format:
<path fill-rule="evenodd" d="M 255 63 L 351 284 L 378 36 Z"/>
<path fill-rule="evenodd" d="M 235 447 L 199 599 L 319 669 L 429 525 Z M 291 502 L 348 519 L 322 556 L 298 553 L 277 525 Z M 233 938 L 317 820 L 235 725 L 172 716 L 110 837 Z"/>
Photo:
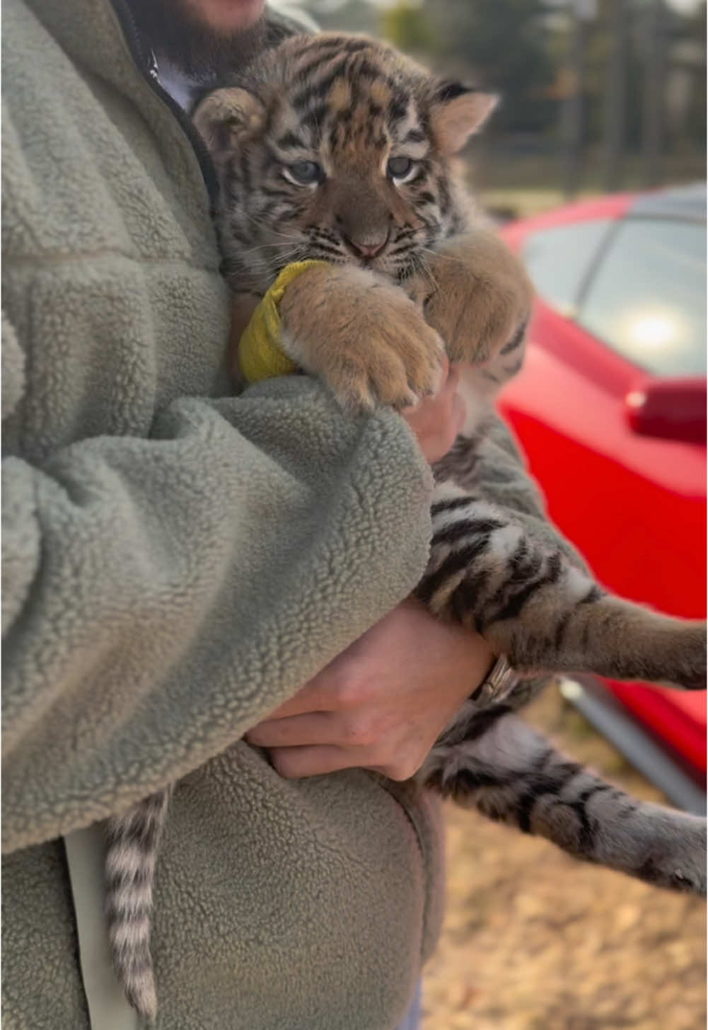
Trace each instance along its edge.
<path fill-rule="evenodd" d="M 295 36 L 193 119 L 220 181 L 227 274 L 262 293 L 293 261 L 402 280 L 464 228 L 453 156 L 496 98 L 359 36 Z"/>

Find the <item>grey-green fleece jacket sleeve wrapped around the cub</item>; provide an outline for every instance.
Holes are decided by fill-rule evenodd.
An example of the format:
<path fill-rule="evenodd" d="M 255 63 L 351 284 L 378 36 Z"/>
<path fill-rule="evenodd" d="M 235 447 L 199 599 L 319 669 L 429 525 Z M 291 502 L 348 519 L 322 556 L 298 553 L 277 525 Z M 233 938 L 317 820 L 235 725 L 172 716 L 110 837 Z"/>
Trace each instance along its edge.
<path fill-rule="evenodd" d="M 305 377 L 5 458 L 3 850 L 129 806 L 291 695 L 413 588 L 429 490 L 398 416 L 347 420 Z"/>

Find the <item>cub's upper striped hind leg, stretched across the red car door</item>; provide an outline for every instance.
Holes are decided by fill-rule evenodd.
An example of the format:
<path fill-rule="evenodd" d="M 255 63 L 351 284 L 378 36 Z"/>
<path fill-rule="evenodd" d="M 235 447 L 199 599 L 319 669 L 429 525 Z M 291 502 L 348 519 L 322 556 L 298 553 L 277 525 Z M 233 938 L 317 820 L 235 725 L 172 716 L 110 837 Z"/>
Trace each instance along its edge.
<path fill-rule="evenodd" d="M 603 591 L 514 515 L 436 487 L 431 558 L 418 595 L 481 632 L 520 672 L 588 672 L 705 689 L 706 626 Z"/>

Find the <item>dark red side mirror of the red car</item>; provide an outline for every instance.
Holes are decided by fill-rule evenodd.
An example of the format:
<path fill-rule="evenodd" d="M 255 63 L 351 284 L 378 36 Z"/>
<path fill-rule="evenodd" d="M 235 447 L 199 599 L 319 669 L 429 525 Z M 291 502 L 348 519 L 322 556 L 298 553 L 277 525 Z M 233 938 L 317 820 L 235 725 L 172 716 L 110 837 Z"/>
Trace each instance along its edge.
<path fill-rule="evenodd" d="M 646 379 L 625 398 L 625 413 L 640 436 L 705 444 L 706 400 L 705 379 Z"/>

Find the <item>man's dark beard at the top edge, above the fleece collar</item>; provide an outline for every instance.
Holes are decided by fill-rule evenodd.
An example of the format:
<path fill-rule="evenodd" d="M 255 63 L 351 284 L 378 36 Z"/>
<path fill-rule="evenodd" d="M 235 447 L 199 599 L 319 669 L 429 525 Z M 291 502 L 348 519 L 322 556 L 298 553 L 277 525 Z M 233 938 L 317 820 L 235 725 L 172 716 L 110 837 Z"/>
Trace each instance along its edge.
<path fill-rule="evenodd" d="M 264 16 L 247 29 L 218 32 L 193 10 L 189 0 L 129 0 L 133 16 L 150 46 L 198 81 L 227 78 L 260 49 L 267 38 Z"/>

